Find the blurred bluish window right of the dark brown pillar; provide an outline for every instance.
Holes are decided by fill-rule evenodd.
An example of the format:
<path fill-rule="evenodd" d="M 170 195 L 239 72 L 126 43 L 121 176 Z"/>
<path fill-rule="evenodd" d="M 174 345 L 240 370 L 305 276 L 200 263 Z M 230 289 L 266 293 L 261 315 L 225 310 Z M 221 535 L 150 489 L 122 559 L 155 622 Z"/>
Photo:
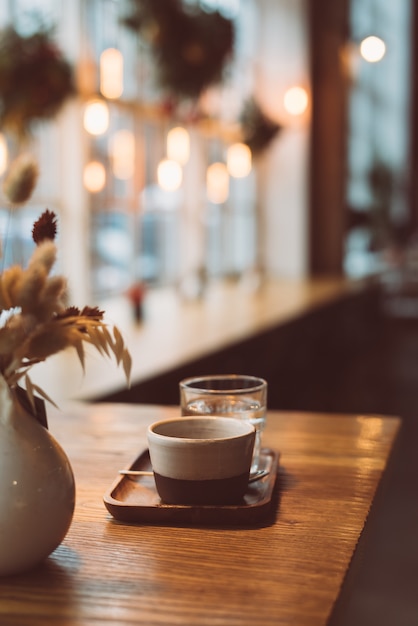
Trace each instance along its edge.
<path fill-rule="evenodd" d="M 376 35 L 386 54 L 353 59 L 349 100 L 345 270 L 364 276 L 382 266 L 388 247 L 408 230 L 411 3 L 352 0 L 351 39 Z"/>

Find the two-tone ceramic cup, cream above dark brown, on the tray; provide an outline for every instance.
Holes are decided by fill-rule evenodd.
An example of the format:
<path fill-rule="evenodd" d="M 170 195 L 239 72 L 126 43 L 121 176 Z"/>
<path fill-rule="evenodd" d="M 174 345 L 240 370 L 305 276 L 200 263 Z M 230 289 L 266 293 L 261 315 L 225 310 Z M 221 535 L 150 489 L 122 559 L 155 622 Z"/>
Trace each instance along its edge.
<path fill-rule="evenodd" d="M 155 485 L 167 504 L 234 504 L 250 475 L 255 429 L 231 417 L 178 417 L 147 433 Z"/>

